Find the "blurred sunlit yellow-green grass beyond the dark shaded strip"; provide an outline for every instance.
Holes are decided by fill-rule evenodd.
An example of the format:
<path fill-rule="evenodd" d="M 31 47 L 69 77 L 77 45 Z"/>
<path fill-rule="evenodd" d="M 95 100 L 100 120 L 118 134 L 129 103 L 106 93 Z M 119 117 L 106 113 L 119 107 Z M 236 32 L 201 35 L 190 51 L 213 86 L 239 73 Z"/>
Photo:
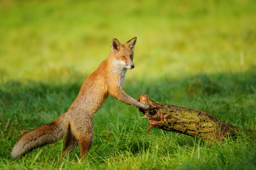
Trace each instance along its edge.
<path fill-rule="evenodd" d="M 113 38 L 135 36 L 138 67 L 128 78 L 256 65 L 255 1 L 1 1 L 0 10 L 4 79 L 40 80 L 63 69 L 89 74 Z"/>

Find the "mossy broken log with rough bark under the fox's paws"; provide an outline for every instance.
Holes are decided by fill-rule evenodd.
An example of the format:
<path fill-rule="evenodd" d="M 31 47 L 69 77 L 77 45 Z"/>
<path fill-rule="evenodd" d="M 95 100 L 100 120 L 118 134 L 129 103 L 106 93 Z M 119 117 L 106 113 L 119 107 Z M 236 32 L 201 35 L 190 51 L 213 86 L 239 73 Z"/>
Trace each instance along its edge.
<path fill-rule="evenodd" d="M 150 111 L 140 109 L 150 124 L 147 132 L 155 127 L 211 141 L 240 133 L 239 128 L 221 122 L 203 111 L 152 101 L 149 95 L 141 95 L 138 101 L 152 108 Z"/>

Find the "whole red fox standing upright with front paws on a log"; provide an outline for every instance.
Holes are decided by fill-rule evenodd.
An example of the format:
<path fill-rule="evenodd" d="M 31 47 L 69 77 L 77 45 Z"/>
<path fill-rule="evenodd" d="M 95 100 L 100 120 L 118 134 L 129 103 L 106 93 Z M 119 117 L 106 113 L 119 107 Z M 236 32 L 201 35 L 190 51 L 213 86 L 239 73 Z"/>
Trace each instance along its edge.
<path fill-rule="evenodd" d="M 83 156 L 90 150 L 93 142 L 93 116 L 109 95 L 129 105 L 144 110 L 150 109 L 149 105 L 138 102 L 122 90 L 127 69 L 134 68 L 133 50 L 136 41 L 137 37 L 134 37 L 121 44 L 117 39 L 113 39 L 107 59 L 86 78 L 68 111 L 52 123 L 23 135 L 14 145 L 11 155 L 18 158 L 35 147 L 65 137 L 63 155 L 72 152 L 79 144 L 80 156 Z"/>

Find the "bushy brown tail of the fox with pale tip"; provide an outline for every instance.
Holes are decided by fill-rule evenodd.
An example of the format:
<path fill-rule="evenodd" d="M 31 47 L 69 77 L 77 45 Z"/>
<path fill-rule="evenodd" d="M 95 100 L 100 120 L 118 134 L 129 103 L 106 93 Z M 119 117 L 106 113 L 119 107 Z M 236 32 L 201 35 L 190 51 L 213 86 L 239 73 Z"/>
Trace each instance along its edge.
<path fill-rule="evenodd" d="M 50 124 L 42 125 L 23 135 L 12 148 L 12 157 L 18 158 L 33 148 L 56 142 L 63 138 L 65 116 L 62 115 Z"/>

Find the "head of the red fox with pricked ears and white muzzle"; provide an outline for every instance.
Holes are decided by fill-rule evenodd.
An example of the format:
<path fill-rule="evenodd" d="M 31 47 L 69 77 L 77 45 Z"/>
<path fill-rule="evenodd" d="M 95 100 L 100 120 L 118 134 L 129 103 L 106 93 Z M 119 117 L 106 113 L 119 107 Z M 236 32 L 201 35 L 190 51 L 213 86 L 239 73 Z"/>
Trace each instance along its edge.
<path fill-rule="evenodd" d="M 121 44 L 117 39 L 111 42 L 111 54 L 113 56 L 113 66 L 116 68 L 133 69 L 133 50 L 137 41 L 137 37 L 129 40 L 125 44 Z"/>

